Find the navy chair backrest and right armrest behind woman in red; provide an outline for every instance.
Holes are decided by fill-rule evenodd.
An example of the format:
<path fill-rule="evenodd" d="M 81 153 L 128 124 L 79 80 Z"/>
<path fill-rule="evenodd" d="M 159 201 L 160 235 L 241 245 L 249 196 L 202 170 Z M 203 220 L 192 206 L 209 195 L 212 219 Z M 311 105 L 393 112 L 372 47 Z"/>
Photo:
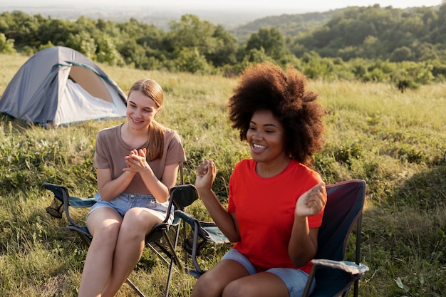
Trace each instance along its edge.
<path fill-rule="evenodd" d="M 313 281 L 316 288 L 311 297 L 345 297 L 353 283 L 353 296 L 358 296 L 359 279 L 368 271 L 367 266 L 360 264 L 365 181 L 351 179 L 327 185 L 326 189 L 327 204 L 318 231 L 318 251 L 303 296 L 308 296 Z M 355 261 L 344 261 L 348 236 L 355 224 Z"/>

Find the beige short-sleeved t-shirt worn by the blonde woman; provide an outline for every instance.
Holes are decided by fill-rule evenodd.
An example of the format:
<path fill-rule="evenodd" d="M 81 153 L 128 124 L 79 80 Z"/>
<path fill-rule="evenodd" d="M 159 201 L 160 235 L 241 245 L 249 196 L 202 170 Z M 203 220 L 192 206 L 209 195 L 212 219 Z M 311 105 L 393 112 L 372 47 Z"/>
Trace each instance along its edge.
<path fill-rule="evenodd" d="M 93 167 L 98 169 L 110 169 L 112 179 L 116 179 L 123 174 L 125 156 L 130 154 L 130 150 L 147 147 L 148 142 L 142 147 L 129 147 L 121 137 L 121 126 L 123 124 L 108 127 L 98 132 L 96 137 L 95 155 L 93 158 Z M 148 162 L 153 173 L 158 179 L 161 179 L 164 168 L 168 165 L 185 162 L 185 151 L 182 147 L 180 136 L 175 130 L 165 128 L 164 150 L 161 159 Z M 132 182 L 124 191 L 125 193 L 150 194 L 149 190 L 142 182 L 139 173 L 135 174 Z"/>

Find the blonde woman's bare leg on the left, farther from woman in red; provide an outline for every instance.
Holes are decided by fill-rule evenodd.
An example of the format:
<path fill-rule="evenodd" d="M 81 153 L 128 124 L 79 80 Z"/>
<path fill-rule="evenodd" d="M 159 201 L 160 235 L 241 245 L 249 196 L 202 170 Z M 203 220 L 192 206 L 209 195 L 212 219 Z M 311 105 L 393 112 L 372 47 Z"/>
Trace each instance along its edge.
<path fill-rule="evenodd" d="M 88 230 L 94 236 L 83 266 L 80 297 L 100 296 L 107 284 L 121 222 L 118 212 L 106 207 L 96 209 L 88 216 Z"/>

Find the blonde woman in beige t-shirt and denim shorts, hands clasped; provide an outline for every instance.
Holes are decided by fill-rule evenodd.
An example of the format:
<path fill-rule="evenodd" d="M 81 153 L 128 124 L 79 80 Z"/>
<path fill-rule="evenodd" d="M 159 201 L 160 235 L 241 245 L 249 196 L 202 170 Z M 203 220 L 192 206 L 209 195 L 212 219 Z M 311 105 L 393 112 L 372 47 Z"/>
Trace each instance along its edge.
<path fill-rule="evenodd" d="M 79 296 L 115 296 L 142 255 L 145 236 L 165 219 L 185 152 L 175 130 L 160 125 L 164 94 L 155 80 L 136 81 L 126 122 L 96 137 L 96 203 L 87 215 L 93 235 Z"/>

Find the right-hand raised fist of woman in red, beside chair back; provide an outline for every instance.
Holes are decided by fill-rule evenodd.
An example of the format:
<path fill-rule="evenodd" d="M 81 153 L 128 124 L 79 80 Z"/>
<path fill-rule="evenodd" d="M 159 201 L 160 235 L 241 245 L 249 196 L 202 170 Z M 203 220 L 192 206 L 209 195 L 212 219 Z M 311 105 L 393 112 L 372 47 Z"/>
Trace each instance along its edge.
<path fill-rule="evenodd" d="M 299 217 L 309 217 L 321 212 L 326 204 L 325 184 L 323 182 L 309 189 L 296 202 L 295 214 Z"/>

